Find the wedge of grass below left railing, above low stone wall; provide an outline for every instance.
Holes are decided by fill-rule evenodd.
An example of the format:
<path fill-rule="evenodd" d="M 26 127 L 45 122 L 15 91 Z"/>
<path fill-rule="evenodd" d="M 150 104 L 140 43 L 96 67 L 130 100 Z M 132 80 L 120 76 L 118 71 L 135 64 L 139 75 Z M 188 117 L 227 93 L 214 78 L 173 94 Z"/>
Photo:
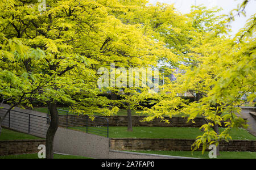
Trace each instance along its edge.
<path fill-rule="evenodd" d="M 10 129 L 2 129 L 2 133 L 0 135 L 0 141 L 7 140 L 21 140 L 21 139 L 42 139 L 39 137 L 35 137 L 26 133 L 20 133 L 18 131 L 13 131 Z"/>

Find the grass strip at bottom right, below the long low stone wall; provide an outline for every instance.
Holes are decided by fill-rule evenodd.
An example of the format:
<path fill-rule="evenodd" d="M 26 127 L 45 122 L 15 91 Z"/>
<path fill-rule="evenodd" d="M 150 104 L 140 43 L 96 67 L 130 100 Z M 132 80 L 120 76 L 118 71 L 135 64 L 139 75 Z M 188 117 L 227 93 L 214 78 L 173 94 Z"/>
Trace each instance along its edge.
<path fill-rule="evenodd" d="M 170 156 L 183 156 L 190 158 L 204 158 L 209 159 L 209 152 L 205 152 L 202 155 L 201 151 L 132 151 L 145 154 L 158 154 L 158 155 L 170 155 Z M 256 159 L 256 152 L 220 152 L 220 156 L 217 159 Z"/>

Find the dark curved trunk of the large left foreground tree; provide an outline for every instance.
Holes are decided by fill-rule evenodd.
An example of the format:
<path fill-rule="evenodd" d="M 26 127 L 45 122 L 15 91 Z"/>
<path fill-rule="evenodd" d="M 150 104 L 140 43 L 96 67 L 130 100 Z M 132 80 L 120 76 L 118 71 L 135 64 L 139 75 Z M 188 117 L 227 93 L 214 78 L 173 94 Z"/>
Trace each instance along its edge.
<path fill-rule="evenodd" d="M 46 134 L 46 159 L 53 159 L 53 142 L 55 133 L 59 127 L 59 114 L 55 103 L 49 104 L 51 123 Z"/>

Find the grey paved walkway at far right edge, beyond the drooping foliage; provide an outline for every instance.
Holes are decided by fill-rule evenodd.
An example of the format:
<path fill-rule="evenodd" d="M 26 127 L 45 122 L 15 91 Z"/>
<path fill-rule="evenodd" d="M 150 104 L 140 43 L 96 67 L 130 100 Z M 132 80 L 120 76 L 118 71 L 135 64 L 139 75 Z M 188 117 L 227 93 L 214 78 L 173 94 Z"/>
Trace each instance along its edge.
<path fill-rule="evenodd" d="M 256 120 L 251 116 L 250 112 L 255 112 L 251 107 L 242 107 L 241 117 L 247 118 L 249 128 L 247 131 L 249 131 L 251 134 L 253 134 L 256 137 Z"/>

